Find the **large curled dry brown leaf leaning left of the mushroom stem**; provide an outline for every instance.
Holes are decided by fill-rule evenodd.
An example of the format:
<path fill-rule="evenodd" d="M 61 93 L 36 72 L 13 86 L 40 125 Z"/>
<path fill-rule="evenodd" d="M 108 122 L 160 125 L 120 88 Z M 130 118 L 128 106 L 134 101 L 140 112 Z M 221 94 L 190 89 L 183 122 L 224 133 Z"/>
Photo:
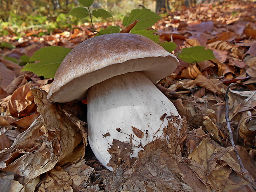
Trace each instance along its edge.
<path fill-rule="evenodd" d="M 85 145 L 79 146 L 83 141 L 80 129 L 55 104 L 48 102 L 46 92 L 32 88 L 32 93 L 40 116 L 28 130 L 17 136 L 11 147 L 0 152 L 1 159 L 9 156 L 8 164 L 2 171 L 17 173 L 27 180 L 51 170 L 57 163 L 67 162 L 69 157 L 71 162 L 78 161 L 83 158 L 85 149 Z M 24 148 L 28 141 L 31 141 L 31 146 Z M 10 159 L 10 154 L 17 149 L 20 157 Z M 81 151 L 75 158 L 74 149 Z"/>

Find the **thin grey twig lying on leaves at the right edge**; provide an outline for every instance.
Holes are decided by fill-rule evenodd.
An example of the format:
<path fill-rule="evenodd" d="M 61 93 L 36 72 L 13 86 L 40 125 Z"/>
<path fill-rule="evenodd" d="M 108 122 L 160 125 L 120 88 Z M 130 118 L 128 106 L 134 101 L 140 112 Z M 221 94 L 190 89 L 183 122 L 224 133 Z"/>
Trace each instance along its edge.
<path fill-rule="evenodd" d="M 247 169 L 244 167 L 243 163 L 242 163 L 242 159 L 241 157 L 239 156 L 239 153 L 237 151 L 237 148 L 236 148 L 236 145 L 235 145 L 235 142 L 234 142 L 234 136 L 233 136 L 233 133 L 232 133 L 232 129 L 231 129 L 231 126 L 230 126 L 230 119 L 229 119 L 229 107 L 228 107 L 228 90 L 230 89 L 230 87 L 234 85 L 234 83 L 231 83 L 228 88 L 227 88 L 227 91 L 225 93 L 225 107 L 226 107 L 226 114 L 225 114 L 225 119 L 227 121 L 227 128 L 228 128 L 228 132 L 229 132 L 229 139 L 230 139 L 230 143 L 232 145 L 232 147 L 234 147 L 234 152 L 237 156 L 237 159 L 239 161 L 239 166 L 240 166 L 240 169 L 241 169 L 241 175 L 243 176 L 243 178 L 245 180 L 247 180 L 249 183 L 251 183 L 252 185 L 255 185 L 255 181 L 251 178 L 251 175 L 250 173 L 247 171 Z"/>

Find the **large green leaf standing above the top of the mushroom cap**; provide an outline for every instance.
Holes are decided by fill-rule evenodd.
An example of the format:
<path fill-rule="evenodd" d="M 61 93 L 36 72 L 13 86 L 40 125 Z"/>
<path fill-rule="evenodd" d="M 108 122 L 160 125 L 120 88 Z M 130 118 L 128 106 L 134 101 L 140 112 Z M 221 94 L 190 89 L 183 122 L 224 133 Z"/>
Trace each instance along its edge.
<path fill-rule="evenodd" d="M 123 18 L 123 26 L 130 25 L 136 19 L 140 21 L 137 22 L 132 31 L 152 27 L 161 17 L 150 11 L 150 9 L 133 9 L 128 17 L 125 16 Z"/>

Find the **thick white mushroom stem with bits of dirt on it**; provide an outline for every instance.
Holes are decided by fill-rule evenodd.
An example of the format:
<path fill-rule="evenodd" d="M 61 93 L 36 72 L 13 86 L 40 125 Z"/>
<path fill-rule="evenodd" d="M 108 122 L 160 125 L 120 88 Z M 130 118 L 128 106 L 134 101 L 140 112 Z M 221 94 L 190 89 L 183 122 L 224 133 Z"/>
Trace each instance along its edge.
<path fill-rule="evenodd" d="M 136 157 L 142 147 L 163 134 L 168 121 L 160 118 L 165 113 L 179 115 L 171 101 L 142 72 L 126 73 L 93 85 L 88 90 L 90 147 L 97 159 L 113 171 L 107 166 L 111 159 L 107 149 L 113 139 L 132 144 L 131 156 Z M 137 137 L 132 127 L 144 136 Z"/>

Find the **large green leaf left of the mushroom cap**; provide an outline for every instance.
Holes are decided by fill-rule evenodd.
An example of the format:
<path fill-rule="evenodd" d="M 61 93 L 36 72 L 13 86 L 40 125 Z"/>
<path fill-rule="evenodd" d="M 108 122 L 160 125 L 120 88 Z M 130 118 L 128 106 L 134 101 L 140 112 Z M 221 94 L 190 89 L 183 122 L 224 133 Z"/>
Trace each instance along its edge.
<path fill-rule="evenodd" d="M 59 65 L 70 51 L 71 49 L 65 47 L 44 47 L 30 58 L 30 62 L 39 61 L 39 63 L 28 63 L 21 71 L 31 71 L 38 76 L 54 78 Z"/>

